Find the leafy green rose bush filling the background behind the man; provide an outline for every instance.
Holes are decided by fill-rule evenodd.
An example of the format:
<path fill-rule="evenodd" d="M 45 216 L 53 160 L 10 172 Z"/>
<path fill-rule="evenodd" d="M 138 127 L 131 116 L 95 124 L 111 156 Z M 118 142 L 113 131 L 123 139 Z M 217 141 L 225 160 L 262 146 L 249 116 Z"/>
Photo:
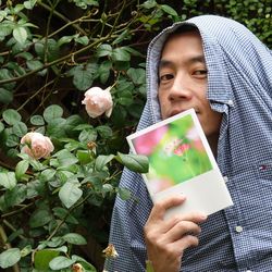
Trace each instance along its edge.
<path fill-rule="evenodd" d="M 114 197 L 135 201 L 119 187 L 123 165 L 147 171 L 125 140 L 145 103 L 147 45 L 201 13 L 236 18 L 271 45 L 265 0 L 236 2 L 0 0 L 0 270 L 102 270 Z M 84 109 L 92 86 L 112 86 L 112 110 L 109 94 Z M 21 144 L 28 133 L 53 150 Z"/>

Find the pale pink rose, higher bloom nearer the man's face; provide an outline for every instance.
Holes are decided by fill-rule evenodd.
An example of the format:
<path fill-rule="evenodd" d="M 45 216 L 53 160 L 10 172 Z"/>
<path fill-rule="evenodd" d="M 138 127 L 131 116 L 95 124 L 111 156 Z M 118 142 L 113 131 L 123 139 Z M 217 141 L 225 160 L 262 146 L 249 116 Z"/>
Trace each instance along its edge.
<path fill-rule="evenodd" d="M 85 98 L 82 101 L 85 104 L 86 111 L 90 118 L 106 115 L 109 118 L 112 112 L 112 97 L 110 88 L 101 89 L 99 87 L 92 87 L 85 92 Z"/>

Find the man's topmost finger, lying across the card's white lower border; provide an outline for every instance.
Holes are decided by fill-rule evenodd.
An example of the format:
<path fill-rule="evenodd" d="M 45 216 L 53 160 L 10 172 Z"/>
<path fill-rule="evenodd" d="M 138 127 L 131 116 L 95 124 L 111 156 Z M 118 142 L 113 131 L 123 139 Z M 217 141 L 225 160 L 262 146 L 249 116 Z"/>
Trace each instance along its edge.
<path fill-rule="evenodd" d="M 163 220 L 165 211 L 172 207 L 180 206 L 185 201 L 186 197 L 184 195 L 177 195 L 159 200 L 154 203 L 150 217 L 150 220 Z"/>

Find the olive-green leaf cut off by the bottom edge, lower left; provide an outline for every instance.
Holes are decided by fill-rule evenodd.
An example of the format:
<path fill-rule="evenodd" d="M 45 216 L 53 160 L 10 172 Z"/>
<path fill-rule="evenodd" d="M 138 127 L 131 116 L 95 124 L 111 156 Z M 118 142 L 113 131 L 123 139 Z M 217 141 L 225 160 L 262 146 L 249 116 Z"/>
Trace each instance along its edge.
<path fill-rule="evenodd" d="M 52 249 L 44 249 L 35 252 L 34 265 L 38 271 L 49 271 L 49 262 L 60 255 L 59 251 Z"/>

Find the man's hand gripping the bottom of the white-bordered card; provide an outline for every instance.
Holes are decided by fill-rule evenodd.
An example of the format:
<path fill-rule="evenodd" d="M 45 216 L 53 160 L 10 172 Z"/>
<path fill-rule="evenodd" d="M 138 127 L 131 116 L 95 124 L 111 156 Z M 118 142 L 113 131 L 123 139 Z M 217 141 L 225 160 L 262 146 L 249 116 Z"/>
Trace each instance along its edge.
<path fill-rule="evenodd" d="M 148 259 L 156 272 L 177 272 L 183 252 L 198 245 L 196 235 L 200 233 L 199 223 L 206 221 L 202 213 L 187 213 L 164 220 L 165 211 L 185 201 L 184 196 L 171 197 L 157 202 L 145 225 L 145 240 Z"/>

